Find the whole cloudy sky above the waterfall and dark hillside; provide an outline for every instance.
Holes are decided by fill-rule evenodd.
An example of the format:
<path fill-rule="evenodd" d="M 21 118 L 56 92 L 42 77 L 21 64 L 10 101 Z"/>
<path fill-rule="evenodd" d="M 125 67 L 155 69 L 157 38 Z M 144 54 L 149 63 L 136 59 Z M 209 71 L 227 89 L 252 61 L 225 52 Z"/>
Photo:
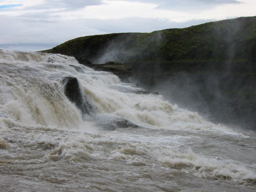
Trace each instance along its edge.
<path fill-rule="evenodd" d="M 256 16 L 256 0 L 0 0 L 0 48 L 37 51 L 82 36 L 244 16 Z"/>

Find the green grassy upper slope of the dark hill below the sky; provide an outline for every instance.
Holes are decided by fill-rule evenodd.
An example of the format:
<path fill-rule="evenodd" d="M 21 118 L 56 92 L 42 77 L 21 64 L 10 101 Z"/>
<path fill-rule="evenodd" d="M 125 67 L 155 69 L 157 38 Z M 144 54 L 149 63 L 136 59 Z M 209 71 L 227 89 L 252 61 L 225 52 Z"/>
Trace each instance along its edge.
<path fill-rule="evenodd" d="M 72 39 L 44 52 L 97 60 L 116 50 L 118 62 L 254 60 L 256 17 L 204 23 L 152 33 L 113 33 Z"/>

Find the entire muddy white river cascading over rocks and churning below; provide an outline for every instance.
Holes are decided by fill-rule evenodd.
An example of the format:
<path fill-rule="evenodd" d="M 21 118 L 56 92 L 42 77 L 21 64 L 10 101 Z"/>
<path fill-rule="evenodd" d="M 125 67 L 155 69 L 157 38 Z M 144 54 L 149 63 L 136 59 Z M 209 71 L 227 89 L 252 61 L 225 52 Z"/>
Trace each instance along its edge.
<path fill-rule="evenodd" d="M 73 57 L 0 49 L 0 87 L 0 191 L 256 190 L 254 131 Z"/>

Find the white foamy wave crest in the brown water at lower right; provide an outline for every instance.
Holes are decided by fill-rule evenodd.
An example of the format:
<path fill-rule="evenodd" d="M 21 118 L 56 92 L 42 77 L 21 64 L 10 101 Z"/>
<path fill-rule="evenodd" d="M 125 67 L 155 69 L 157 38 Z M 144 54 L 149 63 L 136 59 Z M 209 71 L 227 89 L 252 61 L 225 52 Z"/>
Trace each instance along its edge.
<path fill-rule="evenodd" d="M 187 153 L 178 150 L 154 151 L 160 162 L 171 169 L 188 170 L 194 175 L 212 180 L 233 180 L 238 183 L 256 181 L 253 171 L 245 166 L 214 158 L 196 155 L 191 149 Z M 250 181 L 251 180 L 251 181 Z"/>

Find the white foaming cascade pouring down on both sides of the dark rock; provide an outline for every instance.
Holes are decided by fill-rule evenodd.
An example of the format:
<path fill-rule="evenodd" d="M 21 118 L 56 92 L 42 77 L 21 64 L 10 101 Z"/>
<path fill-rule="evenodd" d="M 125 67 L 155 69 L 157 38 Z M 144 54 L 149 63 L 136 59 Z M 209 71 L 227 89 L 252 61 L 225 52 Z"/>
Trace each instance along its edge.
<path fill-rule="evenodd" d="M 80 65 L 73 57 L 1 49 L 0 61 L 1 110 L 5 116 L 27 126 L 79 127 L 83 124 L 79 110 L 68 101 L 61 83 L 65 76 L 71 76 L 78 79 L 82 95 L 88 96 L 86 99 L 96 113 L 112 114 L 140 126 L 158 129 L 216 127 L 197 113 L 164 101 L 162 96 L 112 89 L 109 85 L 128 85 L 120 84 L 118 77 L 111 73 Z"/>

